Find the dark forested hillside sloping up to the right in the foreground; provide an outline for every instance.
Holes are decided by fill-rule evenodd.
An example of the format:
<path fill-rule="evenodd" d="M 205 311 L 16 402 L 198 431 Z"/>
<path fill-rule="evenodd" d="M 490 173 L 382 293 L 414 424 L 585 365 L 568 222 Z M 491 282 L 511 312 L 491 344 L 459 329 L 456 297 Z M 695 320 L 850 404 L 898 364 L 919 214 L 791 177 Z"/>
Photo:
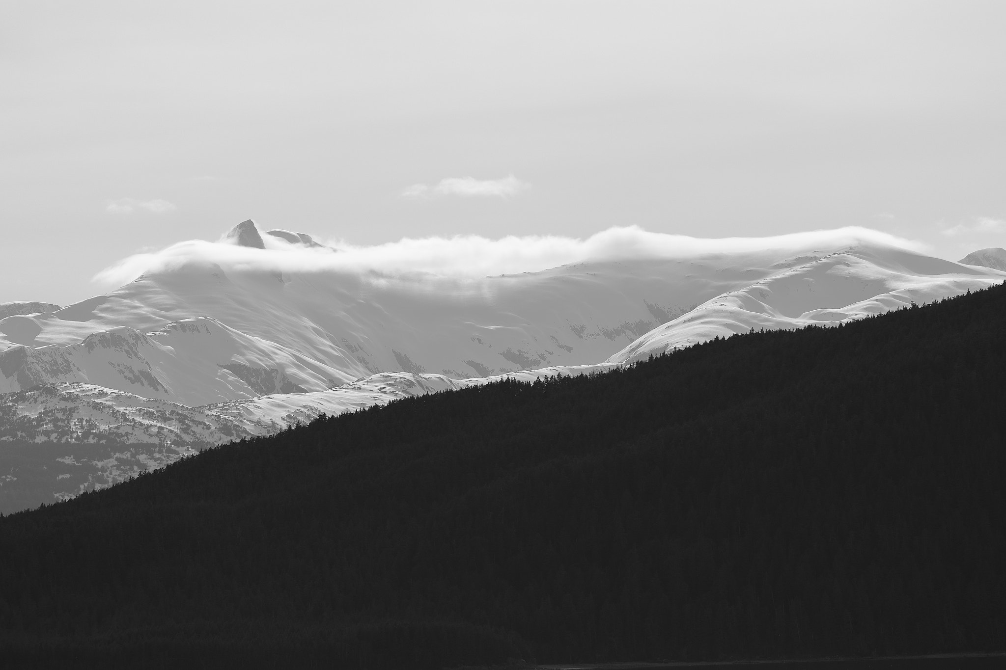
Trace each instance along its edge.
<path fill-rule="evenodd" d="M 0 518 L 0 653 L 1006 650 L 1006 286 L 410 398 Z"/>

